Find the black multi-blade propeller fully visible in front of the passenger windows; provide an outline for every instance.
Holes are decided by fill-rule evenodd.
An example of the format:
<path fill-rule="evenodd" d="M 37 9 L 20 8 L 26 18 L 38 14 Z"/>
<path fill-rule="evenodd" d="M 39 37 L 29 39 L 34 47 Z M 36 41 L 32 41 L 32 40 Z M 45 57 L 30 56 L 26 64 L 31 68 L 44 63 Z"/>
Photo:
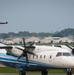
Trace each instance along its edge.
<path fill-rule="evenodd" d="M 28 64 L 28 54 L 36 55 L 36 54 L 34 54 L 34 53 L 32 53 L 32 52 L 29 51 L 29 48 L 31 48 L 34 43 L 30 44 L 30 46 L 27 47 L 27 46 L 26 46 L 26 43 L 25 43 L 25 38 L 23 38 L 23 44 L 24 44 L 24 49 L 20 49 L 20 48 L 19 48 L 20 50 L 23 51 L 23 53 L 18 57 L 18 60 L 19 60 L 21 57 L 26 57 L 26 63 Z"/>

